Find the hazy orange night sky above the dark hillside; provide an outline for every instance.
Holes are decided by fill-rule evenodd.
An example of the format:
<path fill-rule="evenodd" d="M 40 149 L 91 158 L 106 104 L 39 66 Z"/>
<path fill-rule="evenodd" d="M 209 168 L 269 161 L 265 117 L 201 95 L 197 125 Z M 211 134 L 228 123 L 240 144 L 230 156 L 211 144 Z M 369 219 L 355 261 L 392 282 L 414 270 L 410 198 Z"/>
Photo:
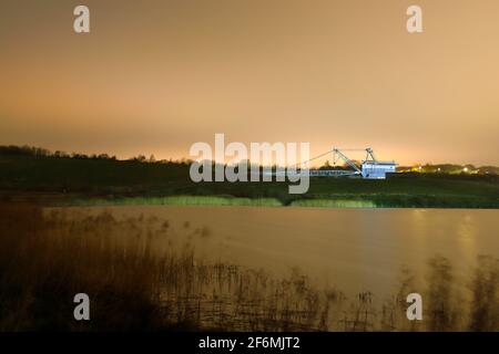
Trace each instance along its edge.
<path fill-rule="evenodd" d="M 497 0 L 2 0 L 0 145 L 181 158 L 224 133 L 499 165 L 498 15 Z"/>

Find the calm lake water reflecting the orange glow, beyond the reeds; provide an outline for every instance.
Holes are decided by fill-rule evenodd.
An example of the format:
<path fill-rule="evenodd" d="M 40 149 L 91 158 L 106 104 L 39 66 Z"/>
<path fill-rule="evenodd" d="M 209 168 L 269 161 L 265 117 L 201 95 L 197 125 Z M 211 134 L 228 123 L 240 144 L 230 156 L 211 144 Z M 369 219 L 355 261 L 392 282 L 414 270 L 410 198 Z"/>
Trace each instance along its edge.
<path fill-rule="evenodd" d="M 322 209 L 255 207 L 71 208 L 75 216 L 110 211 L 116 219 L 169 221 L 159 247 L 189 243 L 198 257 L 284 275 L 298 268 L 347 294 L 393 293 L 404 266 L 424 284 L 439 254 L 468 287 L 478 254 L 499 258 L 499 210 Z M 126 232 L 126 231 L 124 231 Z M 164 244 L 161 244 L 164 243 Z M 422 285 L 421 285 L 422 287 Z M 424 289 L 421 289 L 421 292 Z"/>

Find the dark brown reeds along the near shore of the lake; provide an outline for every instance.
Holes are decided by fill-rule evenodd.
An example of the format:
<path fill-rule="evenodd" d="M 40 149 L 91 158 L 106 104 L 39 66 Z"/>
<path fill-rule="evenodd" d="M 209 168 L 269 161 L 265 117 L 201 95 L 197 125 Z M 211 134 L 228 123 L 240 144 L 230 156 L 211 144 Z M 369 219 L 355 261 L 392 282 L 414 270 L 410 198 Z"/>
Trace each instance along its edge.
<path fill-rule="evenodd" d="M 189 225 L 186 226 L 189 227 Z M 0 331 L 498 331 L 499 260 L 479 257 L 468 291 L 452 266 L 428 262 L 424 321 L 406 319 L 414 274 L 394 295 L 347 298 L 293 270 L 206 262 L 193 247 L 169 244 L 167 221 L 112 215 L 70 218 L 0 205 Z M 201 232 L 197 237 L 204 237 Z M 91 321 L 73 319 L 73 296 L 91 299 Z M 465 296 L 462 296 L 465 295 Z"/>

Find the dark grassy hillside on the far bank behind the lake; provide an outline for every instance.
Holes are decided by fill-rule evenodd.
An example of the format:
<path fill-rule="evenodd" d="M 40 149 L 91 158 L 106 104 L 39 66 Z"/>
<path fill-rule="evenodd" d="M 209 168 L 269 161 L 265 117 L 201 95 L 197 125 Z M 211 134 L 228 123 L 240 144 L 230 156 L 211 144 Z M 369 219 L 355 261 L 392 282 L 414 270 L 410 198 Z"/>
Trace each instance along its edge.
<path fill-rule="evenodd" d="M 47 202 L 147 202 L 169 196 L 218 196 L 225 200 L 271 199 L 272 205 L 277 201 L 296 206 L 499 208 L 499 179 L 495 175 L 417 174 L 387 180 L 310 178 L 307 194 L 289 195 L 287 183 L 195 184 L 189 178 L 189 165 L 180 163 L 0 155 L 0 171 L 1 195 L 39 196 L 39 200 Z M 185 198 L 182 200 L 189 204 Z M 213 200 L 221 204 L 221 198 Z M 265 205 L 249 201 L 262 204 Z"/>

